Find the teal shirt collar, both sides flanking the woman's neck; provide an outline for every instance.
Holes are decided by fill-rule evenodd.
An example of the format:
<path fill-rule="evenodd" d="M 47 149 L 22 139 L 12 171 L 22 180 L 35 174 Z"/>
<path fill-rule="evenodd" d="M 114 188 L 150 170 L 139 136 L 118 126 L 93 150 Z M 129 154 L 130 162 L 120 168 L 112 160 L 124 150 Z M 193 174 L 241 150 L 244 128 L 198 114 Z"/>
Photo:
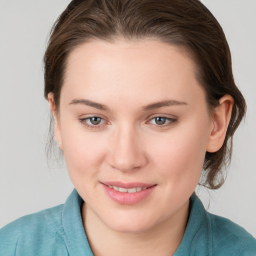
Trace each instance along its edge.
<path fill-rule="evenodd" d="M 195 193 L 191 195 L 189 201 L 188 223 L 182 241 L 173 256 L 211 255 L 212 234 L 209 215 Z M 93 256 L 82 224 L 82 204 L 82 198 L 74 189 L 64 203 L 62 211 L 65 244 L 70 255 Z"/>

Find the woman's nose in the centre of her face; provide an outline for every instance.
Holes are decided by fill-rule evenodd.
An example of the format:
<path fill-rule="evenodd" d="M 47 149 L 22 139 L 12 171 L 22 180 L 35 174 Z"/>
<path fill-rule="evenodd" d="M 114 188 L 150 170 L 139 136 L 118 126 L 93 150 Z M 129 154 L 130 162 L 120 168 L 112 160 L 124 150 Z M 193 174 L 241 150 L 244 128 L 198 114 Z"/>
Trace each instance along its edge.
<path fill-rule="evenodd" d="M 141 143 L 141 133 L 125 125 L 116 129 L 113 133 L 107 155 L 108 164 L 122 172 L 145 166 L 147 157 L 143 143 Z"/>

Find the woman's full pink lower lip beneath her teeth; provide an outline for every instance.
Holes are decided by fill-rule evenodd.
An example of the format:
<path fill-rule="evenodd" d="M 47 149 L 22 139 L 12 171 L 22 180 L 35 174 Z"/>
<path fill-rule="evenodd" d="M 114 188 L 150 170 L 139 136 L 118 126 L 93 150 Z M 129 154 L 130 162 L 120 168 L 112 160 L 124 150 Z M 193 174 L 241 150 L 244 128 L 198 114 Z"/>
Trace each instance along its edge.
<path fill-rule="evenodd" d="M 102 183 L 101 183 L 102 184 Z M 150 186 L 144 190 L 128 193 L 128 192 L 119 192 L 110 188 L 109 186 L 102 184 L 103 189 L 106 194 L 115 202 L 120 204 L 135 204 L 139 203 L 143 199 L 145 199 L 149 194 L 151 194 L 156 187 L 156 185 Z"/>

